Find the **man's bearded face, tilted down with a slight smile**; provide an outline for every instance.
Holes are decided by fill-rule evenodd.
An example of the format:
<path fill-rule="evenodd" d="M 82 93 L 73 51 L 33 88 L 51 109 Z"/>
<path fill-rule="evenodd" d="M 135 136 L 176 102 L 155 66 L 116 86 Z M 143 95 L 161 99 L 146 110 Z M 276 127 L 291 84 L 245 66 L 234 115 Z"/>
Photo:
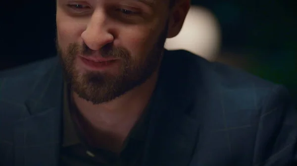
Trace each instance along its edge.
<path fill-rule="evenodd" d="M 57 50 L 65 79 L 94 104 L 144 83 L 158 68 L 169 0 L 57 0 Z"/>

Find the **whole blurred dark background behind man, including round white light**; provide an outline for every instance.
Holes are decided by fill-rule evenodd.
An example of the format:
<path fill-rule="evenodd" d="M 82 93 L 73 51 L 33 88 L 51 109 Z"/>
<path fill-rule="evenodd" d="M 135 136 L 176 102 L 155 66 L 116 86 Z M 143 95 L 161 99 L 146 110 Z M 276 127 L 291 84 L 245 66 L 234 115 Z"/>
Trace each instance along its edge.
<path fill-rule="evenodd" d="M 192 0 L 182 32 L 166 41 L 209 61 L 285 85 L 297 101 L 295 0 Z M 5 0 L 0 70 L 55 56 L 55 0 Z"/>

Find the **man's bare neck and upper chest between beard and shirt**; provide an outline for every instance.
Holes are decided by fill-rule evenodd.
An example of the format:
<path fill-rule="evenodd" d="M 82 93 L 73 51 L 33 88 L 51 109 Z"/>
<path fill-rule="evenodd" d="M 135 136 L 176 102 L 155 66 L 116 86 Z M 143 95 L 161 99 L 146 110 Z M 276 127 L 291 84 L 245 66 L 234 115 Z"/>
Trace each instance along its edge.
<path fill-rule="evenodd" d="M 157 82 L 158 72 L 142 85 L 123 96 L 94 105 L 72 94 L 80 114 L 84 117 L 84 131 L 93 146 L 119 153 L 131 129 L 147 106 Z M 89 131 L 89 132 L 88 132 Z"/>

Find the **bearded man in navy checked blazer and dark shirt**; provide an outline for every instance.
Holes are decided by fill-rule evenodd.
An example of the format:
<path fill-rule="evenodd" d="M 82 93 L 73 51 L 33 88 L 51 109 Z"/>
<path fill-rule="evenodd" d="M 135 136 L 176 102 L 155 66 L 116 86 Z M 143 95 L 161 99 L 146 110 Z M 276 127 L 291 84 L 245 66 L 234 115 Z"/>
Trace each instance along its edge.
<path fill-rule="evenodd" d="M 58 58 L 0 73 L 0 165 L 294 165 L 282 86 L 163 49 L 189 6 L 57 0 Z"/>

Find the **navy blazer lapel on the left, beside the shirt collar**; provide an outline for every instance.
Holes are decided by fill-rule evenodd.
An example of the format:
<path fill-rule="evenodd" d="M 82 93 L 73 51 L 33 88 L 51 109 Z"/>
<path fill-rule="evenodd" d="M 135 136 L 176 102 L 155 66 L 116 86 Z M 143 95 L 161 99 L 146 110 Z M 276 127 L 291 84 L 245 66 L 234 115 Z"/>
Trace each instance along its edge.
<path fill-rule="evenodd" d="M 25 102 L 31 116 L 15 124 L 15 166 L 58 166 L 63 78 L 54 62 Z"/>

